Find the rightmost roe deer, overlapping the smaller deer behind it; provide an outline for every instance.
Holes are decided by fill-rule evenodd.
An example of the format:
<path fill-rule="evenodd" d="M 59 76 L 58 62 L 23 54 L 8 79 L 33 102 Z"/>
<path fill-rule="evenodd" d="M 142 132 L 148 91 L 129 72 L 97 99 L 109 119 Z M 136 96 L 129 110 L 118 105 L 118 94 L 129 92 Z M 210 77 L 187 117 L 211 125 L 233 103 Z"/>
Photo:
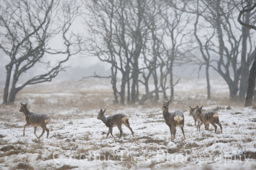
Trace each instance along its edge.
<path fill-rule="evenodd" d="M 196 117 L 198 117 L 201 121 L 198 127 L 199 131 L 200 131 L 200 126 L 202 124 L 206 124 L 209 130 L 209 124 L 211 123 L 215 129 L 215 133 L 217 131 L 217 125 L 219 125 L 222 133 L 222 126 L 220 124 L 218 112 L 215 110 L 211 110 L 211 111 L 206 111 L 202 113 L 202 107 L 198 108 L 198 106 L 196 106 L 196 112 L 195 112 Z M 217 125 L 215 125 L 215 123 Z"/>

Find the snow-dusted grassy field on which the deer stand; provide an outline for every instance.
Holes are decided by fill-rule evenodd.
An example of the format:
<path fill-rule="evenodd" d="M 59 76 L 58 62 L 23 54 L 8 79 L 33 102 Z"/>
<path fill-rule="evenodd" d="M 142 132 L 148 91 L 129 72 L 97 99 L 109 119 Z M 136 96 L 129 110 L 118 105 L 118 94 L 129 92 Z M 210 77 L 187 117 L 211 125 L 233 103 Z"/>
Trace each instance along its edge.
<path fill-rule="evenodd" d="M 204 79 L 180 80 L 169 111 L 183 111 L 186 140 L 178 127 L 174 141 L 164 123 L 161 101 L 115 106 L 111 85 L 103 80 L 90 81 L 29 87 L 18 94 L 14 105 L 1 105 L 0 169 L 256 169 L 256 110 L 226 101 L 228 88 L 221 79 L 211 81 L 212 100 L 206 100 Z M 50 115 L 48 139 L 46 133 L 36 139 L 31 126 L 26 127 L 23 137 L 26 121 L 18 110 L 19 102 L 25 101 L 31 112 Z M 215 134 L 212 125 L 210 131 L 204 126 L 196 131 L 189 116 L 189 106 L 195 103 L 218 111 L 222 134 L 218 126 Z M 96 119 L 100 109 L 106 109 L 106 116 L 125 113 L 134 137 L 122 126 L 121 138 L 114 127 L 117 141 L 111 135 L 106 139 L 108 128 Z M 42 128 L 38 127 L 40 133 Z"/>

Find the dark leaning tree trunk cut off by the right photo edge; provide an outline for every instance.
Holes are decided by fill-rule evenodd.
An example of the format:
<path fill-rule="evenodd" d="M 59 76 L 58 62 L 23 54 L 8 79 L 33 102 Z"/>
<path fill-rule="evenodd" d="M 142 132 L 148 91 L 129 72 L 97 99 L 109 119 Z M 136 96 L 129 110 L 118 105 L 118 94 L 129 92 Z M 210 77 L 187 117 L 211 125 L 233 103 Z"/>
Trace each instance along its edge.
<path fill-rule="evenodd" d="M 248 90 L 247 90 L 246 100 L 244 104 L 245 107 L 252 106 L 252 96 L 255 88 L 255 78 L 256 78 L 256 57 L 250 69 L 249 80 L 248 80 Z"/>

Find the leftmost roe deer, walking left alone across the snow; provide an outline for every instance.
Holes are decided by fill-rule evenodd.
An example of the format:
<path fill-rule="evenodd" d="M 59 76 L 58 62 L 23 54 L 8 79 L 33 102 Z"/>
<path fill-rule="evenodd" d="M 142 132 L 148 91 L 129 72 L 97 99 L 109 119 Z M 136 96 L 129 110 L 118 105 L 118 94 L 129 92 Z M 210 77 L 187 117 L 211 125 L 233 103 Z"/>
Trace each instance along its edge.
<path fill-rule="evenodd" d="M 49 129 L 47 129 L 46 125 L 50 122 L 51 118 L 44 114 L 44 113 L 31 113 L 27 106 L 28 106 L 28 103 L 26 104 L 21 104 L 21 107 L 20 107 L 20 112 L 24 113 L 24 115 L 26 116 L 26 124 L 24 125 L 24 129 L 23 129 L 23 136 L 25 136 L 25 127 L 26 126 L 34 126 L 34 134 L 36 135 L 36 128 L 37 127 L 42 127 L 43 128 L 43 132 L 42 134 L 38 137 L 37 139 L 39 139 L 42 135 L 44 135 L 44 131 L 47 132 L 47 136 L 46 138 L 48 138 L 48 135 L 49 135 Z"/>

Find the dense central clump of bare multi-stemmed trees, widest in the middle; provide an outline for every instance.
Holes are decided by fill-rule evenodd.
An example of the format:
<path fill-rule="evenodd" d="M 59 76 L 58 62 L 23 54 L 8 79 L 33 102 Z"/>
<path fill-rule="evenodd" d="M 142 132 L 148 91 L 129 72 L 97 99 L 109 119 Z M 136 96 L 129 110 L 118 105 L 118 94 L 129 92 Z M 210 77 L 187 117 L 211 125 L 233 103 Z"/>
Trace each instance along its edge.
<path fill-rule="evenodd" d="M 112 65 L 112 87 L 115 102 L 120 95 L 120 104 L 125 103 L 127 84 L 127 101 L 134 104 L 138 99 L 139 57 L 147 30 L 143 25 L 144 0 L 98 0 L 85 2 L 88 13 L 86 24 L 90 39 L 87 51 L 98 56 L 101 61 Z M 116 74 L 122 74 L 120 92 L 116 87 Z M 130 79 L 132 79 L 130 92 Z"/>

